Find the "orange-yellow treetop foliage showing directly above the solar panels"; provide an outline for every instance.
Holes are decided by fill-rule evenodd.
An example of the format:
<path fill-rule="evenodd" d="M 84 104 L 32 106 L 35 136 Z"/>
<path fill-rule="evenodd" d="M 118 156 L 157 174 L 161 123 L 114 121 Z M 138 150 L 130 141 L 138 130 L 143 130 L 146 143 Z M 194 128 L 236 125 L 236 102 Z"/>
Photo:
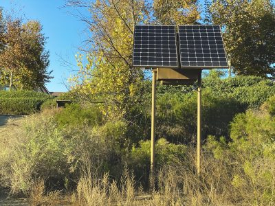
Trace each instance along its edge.
<path fill-rule="evenodd" d="M 155 0 L 153 10 L 163 24 L 194 24 L 200 19 L 197 0 Z"/>

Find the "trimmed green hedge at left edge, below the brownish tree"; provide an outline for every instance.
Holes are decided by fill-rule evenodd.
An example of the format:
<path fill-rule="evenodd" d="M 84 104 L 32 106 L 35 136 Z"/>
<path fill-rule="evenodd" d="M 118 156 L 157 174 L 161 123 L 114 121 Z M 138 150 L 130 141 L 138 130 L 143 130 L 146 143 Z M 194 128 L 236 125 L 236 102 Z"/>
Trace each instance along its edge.
<path fill-rule="evenodd" d="M 30 115 L 40 110 L 45 98 L 0 98 L 0 114 Z"/>

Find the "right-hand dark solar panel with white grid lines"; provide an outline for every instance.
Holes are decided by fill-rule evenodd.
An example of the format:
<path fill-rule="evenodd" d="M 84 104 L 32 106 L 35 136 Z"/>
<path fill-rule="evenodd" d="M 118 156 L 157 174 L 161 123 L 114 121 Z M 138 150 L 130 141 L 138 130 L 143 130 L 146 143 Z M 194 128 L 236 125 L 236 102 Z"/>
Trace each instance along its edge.
<path fill-rule="evenodd" d="M 219 25 L 179 25 L 181 68 L 227 68 Z"/>

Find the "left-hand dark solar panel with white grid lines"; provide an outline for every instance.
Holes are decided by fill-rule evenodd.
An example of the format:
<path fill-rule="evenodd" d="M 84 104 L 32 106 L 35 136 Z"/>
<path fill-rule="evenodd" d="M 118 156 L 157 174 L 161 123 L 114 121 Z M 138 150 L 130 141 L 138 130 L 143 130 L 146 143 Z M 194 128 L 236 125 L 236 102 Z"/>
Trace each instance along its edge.
<path fill-rule="evenodd" d="M 175 25 L 136 25 L 133 66 L 177 68 Z"/>

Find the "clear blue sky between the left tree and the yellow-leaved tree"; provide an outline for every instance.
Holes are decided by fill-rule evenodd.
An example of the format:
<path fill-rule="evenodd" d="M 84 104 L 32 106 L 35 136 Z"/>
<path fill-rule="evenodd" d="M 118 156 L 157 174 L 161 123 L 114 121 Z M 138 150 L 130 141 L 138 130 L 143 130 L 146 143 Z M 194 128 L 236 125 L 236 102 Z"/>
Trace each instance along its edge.
<path fill-rule="evenodd" d="M 87 37 L 85 24 L 63 8 L 64 0 L 0 0 L 4 12 L 15 11 L 25 21 L 38 20 L 47 36 L 47 50 L 50 51 L 50 67 L 54 78 L 46 84 L 49 91 L 67 91 L 61 82 L 66 82 L 72 73 L 72 65 L 66 66 L 61 57 L 76 65 L 74 55 Z M 61 57 L 60 57 L 61 56 Z"/>

